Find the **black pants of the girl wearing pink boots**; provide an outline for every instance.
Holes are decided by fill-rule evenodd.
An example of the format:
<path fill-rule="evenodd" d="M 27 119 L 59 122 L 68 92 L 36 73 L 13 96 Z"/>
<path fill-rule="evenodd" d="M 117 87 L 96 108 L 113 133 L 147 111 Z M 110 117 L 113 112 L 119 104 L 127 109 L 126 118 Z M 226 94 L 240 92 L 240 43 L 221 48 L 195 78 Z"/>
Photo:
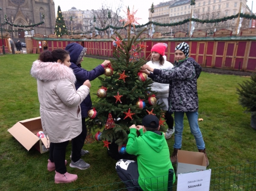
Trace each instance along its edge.
<path fill-rule="evenodd" d="M 66 157 L 66 146 L 69 141 L 50 143 L 50 156 L 49 159 L 55 164 L 55 170 L 58 173 L 66 173 L 65 157 Z"/>

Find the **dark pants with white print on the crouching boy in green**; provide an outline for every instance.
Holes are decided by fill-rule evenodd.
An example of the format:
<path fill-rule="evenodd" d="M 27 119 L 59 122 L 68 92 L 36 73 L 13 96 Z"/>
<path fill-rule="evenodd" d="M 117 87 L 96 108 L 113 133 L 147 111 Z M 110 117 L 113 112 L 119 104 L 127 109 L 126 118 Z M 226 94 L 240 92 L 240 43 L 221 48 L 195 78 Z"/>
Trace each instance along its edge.
<path fill-rule="evenodd" d="M 116 172 L 128 191 L 142 190 L 138 183 L 138 164 L 134 160 L 120 159 L 116 163 Z"/>

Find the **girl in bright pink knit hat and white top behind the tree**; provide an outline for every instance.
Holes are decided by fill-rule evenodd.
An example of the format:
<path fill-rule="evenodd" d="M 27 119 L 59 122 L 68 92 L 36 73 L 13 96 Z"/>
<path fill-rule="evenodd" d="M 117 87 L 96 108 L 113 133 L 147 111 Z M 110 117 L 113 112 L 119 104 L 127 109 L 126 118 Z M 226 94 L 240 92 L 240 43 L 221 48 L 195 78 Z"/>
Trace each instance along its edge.
<path fill-rule="evenodd" d="M 167 47 L 167 44 L 165 43 L 157 43 L 154 45 L 151 49 L 151 55 L 152 58 L 151 60 L 146 63 L 148 66 L 151 68 L 156 68 L 156 69 L 164 69 L 164 70 L 171 70 L 173 68 L 173 64 L 168 62 L 166 60 L 165 56 L 165 49 Z M 160 104 L 162 103 L 163 110 L 166 111 L 165 113 L 165 120 L 168 125 L 168 129 L 165 133 L 165 138 L 171 138 L 172 134 L 174 133 L 174 127 L 173 127 L 173 112 L 168 111 L 169 104 L 168 104 L 168 96 L 169 96 L 169 84 L 160 84 L 153 82 L 151 89 L 153 92 L 157 92 L 156 98 L 157 102 Z"/>

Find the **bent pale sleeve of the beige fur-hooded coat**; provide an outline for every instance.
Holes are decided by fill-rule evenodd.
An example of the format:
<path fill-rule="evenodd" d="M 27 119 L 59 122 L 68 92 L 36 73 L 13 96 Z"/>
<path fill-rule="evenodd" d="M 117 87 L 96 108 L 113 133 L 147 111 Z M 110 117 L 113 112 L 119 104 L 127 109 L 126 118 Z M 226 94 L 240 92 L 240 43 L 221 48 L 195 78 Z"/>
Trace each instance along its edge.
<path fill-rule="evenodd" d="M 56 88 L 56 94 L 66 106 L 79 106 L 83 99 L 88 96 L 90 89 L 86 85 L 80 86 L 76 91 L 71 81 L 61 80 Z"/>

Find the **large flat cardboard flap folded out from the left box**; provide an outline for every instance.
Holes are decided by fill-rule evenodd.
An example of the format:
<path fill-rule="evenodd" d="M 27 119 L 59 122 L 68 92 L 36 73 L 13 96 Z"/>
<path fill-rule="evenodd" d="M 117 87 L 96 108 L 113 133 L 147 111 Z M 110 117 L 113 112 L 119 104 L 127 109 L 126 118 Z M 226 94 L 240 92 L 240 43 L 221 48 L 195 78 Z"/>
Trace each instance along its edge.
<path fill-rule="evenodd" d="M 9 133 L 16 138 L 27 150 L 30 150 L 40 140 L 35 134 L 19 122 L 8 129 Z"/>

